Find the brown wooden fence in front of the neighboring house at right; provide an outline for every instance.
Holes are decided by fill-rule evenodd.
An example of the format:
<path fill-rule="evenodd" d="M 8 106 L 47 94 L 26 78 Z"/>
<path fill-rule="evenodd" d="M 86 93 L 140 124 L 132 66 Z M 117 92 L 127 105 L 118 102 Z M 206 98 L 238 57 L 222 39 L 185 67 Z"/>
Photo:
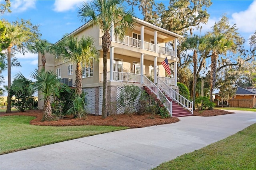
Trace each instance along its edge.
<path fill-rule="evenodd" d="M 228 100 L 229 107 L 246 107 L 256 108 L 256 98 L 254 99 L 230 99 Z"/>

